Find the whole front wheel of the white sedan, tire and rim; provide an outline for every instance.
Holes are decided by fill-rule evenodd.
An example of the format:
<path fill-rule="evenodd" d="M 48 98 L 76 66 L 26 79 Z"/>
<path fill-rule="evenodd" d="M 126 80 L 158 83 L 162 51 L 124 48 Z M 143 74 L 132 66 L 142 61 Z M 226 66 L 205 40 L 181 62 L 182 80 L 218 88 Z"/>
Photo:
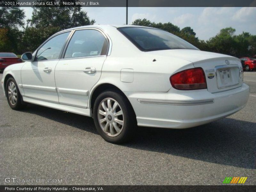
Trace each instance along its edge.
<path fill-rule="evenodd" d="M 21 95 L 16 81 L 11 77 L 6 82 L 5 91 L 7 94 L 7 101 L 9 106 L 14 110 L 24 108 L 25 105 L 21 103 Z"/>

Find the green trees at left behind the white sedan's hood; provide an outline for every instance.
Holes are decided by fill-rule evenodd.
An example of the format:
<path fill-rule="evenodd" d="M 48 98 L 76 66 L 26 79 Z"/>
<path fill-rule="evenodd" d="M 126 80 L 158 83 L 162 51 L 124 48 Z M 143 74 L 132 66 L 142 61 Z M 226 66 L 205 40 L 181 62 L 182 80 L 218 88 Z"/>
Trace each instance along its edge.
<path fill-rule="evenodd" d="M 81 7 L 34 7 L 26 23 L 25 17 L 19 7 L 0 8 L 0 52 L 33 52 L 60 30 L 95 23 Z"/>

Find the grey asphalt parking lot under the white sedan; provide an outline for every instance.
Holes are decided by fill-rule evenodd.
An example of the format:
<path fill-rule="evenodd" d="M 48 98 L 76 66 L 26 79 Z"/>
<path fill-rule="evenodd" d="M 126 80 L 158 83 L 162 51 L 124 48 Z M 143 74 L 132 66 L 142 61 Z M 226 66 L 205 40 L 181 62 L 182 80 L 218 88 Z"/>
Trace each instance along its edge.
<path fill-rule="evenodd" d="M 256 72 L 245 72 L 244 82 L 250 97 L 236 114 L 185 130 L 139 127 L 124 145 L 104 141 L 90 117 L 36 105 L 14 111 L 0 88 L 0 185 L 29 184 L 7 177 L 62 180 L 32 183 L 40 185 L 222 185 L 230 176 L 256 185 Z"/>

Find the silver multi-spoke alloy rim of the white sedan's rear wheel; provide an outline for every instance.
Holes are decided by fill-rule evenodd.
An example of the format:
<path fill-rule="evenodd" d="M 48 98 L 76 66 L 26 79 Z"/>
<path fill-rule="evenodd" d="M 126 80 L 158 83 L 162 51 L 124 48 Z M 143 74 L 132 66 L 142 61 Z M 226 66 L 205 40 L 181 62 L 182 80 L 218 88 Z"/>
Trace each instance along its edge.
<path fill-rule="evenodd" d="M 116 100 L 106 98 L 101 101 L 98 108 L 98 121 L 101 129 L 111 137 L 115 137 L 122 132 L 124 114 Z"/>

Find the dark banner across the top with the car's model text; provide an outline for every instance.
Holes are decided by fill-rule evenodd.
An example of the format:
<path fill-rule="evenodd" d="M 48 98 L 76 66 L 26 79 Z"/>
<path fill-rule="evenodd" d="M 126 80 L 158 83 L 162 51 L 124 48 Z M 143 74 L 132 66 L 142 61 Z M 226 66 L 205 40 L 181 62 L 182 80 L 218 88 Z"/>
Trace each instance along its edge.
<path fill-rule="evenodd" d="M 19 7 L 256 7 L 255 0 L 0 0 Z"/>

